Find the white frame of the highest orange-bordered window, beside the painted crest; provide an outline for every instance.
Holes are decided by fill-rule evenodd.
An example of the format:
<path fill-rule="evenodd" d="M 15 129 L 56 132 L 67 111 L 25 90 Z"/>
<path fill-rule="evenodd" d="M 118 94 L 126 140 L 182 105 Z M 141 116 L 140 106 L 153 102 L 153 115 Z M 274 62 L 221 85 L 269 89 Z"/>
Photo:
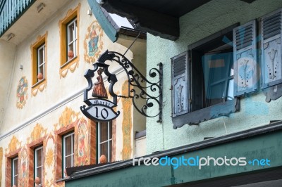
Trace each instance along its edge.
<path fill-rule="evenodd" d="M 67 51 L 66 53 L 68 54 L 68 51 L 71 50 L 70 46 L 73 46 L 73 58 L 75 58 L 76 56 L 76 46 L 77 46 L 77 40 L 78 40 L 78 23 L 77 23 L 78 18 L 75 17 L 71 22 L 68 22 L 68 24 L 66 25 L 66 37 L 67 37 Z M 72 32 L 70 33 L 68 28 L 72 27 L 73 25 L 73 29 Z M 70 36 L 72 35 L 73 40 L 70 40 Z M 71 58 L 70 60 L 72 60 L 73 58 Z M 68 61 L 68 60 L 67 60 Z"/>

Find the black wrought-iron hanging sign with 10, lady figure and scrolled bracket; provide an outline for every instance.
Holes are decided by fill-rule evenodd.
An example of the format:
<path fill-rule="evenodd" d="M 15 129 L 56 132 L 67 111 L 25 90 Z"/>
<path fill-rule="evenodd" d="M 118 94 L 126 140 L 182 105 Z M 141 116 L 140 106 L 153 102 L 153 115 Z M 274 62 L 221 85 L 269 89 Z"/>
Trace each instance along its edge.
<path fill-rule="evenodd" d="M 108 62 L 107 64 L 105 62 Z M 109 72 L 109 66 L 111 63 L 118 63 L 123 67 L 124 72 L 128 78 L 128 94 L 117 95 L 114 93 L 114 84 L 118 82 L 115 74 Z M 97 63 L 94 63 L 94 70 L 87 70 L 84 77 L 87 79 L 88 87 L 84 91 L 84 102 L 87 106 L 83 105 L 80 110 L 85 116 L 91 120 L 97 122 L 107 122 L 114 120 L 120 114 L 119 111 L 115 112 L 114 107 L 117 104 L 117 98 L 130 98 L 133 102 L 135 109 L 140 112 L 140 114 L 146 117 L 157 117 L 161 122 L 161 103 L 162 103 L 162 63 L 159 63 L 159 69 L 152 68 L 149 70 L 149 79 L 154 80 L 154 82 L 146 79 L 142 73 L 137 70 L 135 65 L 130 62 L 121 53 L 114 51 L 105 51 L 98 59 Z M 97 71 L 98 82 L 94 84 L 92 78 L 94 77 L 94 72 Z M 113 101 L 109 101 L 106 98 L 106 91 L 104 90 L 104 83 L 102 72 L 107 77 L 109 82 L 109 94 L 113 98 Z M 157 79 L 157 81 L 156 81 Z M 88 98 L 88 91 L 92 91 L 92 97 Z"/>

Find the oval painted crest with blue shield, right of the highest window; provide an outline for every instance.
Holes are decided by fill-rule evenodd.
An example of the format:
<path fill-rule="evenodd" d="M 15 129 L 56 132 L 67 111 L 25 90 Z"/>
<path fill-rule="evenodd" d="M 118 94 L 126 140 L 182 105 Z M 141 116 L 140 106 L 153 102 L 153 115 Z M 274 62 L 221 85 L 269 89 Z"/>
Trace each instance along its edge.
<path fill-rule="evenodd" d="M 99 57 L 103 49 L 103 35 L 102 27 L 97 20 L 94 20 L 87 28 L 87 34 L 84 41 L 84 60 L 86 63 L 94 63 Z"/>

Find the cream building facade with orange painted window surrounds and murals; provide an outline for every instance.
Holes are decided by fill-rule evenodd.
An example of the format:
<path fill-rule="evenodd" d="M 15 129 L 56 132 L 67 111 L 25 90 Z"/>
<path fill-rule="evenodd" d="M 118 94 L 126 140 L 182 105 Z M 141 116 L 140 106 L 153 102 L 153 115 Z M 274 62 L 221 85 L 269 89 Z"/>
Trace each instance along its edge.
<path fill-rule="evenodd" d="M 128 98 L 118 98 L 121 113 L 111 122 L 93 122 L 80 111 L 86 70 L 106 50 L 125 53 L 135 31 L 112 20 L 106 32 L 118 28 L 131 34 L 116 32 L 109 38 L 85 0 L 8 0 L 0 1 L 0 8 L 0 186 L 34 186 L 35 181 L 65 186 L 66 167 L 97 164 L 101 155 L 107 162 L 144 155 L 144 138 L 135 141 L 135 131 L 145 130 L 145 118 L 133 111 Z M 143 37 L 125 56 L 140 66 L 145 51 Z M 109 71 L 118 79 L 116 93 L 128 94 L 123 68 L 112 63 Z M 108 90 L 103 70 L 101 76 L 97 80 L 95 73 L 93 83 Z M 142 145 L 137 150 L 136 142 Z"/>

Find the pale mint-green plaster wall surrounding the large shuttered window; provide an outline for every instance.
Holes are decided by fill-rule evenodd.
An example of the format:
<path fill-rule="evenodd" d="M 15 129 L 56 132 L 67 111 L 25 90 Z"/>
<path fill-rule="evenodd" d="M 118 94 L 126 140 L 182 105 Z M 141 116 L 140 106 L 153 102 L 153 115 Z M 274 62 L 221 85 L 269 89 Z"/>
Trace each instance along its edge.
<path fill-rule="evenodd" d="M 229 134 L 269 124 L 270 120 L 282 120 L 282 98 L 266 103 L 264 94 L 260 92 L 241 99 L 240 112 L 230 117 L 202 122 L 199 126 L 185 125 L 176 130 L 171 121 L 171 58 L 187 51 L 188 45 L 236 22 L 243 25 L 278 8 L 282 8 L 282 1 L 257 0 L 247 4 L 239 0 L 214 0 L 180 18 L 178 40 L 169 41 L 147 34 L 147 70 L 157 67 L 159 62 L 164 63 L 163 122 L 159 124 L 157 118 L 147 118 L 148 154 L 202 141 L 204 137 L 223 136 L 226 129 Z"/>

